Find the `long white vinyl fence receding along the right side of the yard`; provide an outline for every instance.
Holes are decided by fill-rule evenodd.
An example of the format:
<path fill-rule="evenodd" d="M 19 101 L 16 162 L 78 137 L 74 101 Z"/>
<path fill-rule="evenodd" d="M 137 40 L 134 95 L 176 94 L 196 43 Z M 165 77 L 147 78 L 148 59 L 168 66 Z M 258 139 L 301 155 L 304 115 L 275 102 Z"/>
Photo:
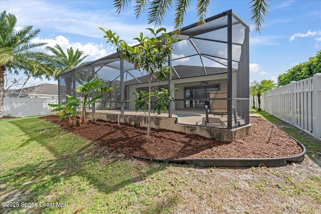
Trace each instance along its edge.
<path fill-rule="evenodd" d="M 261 109 L 321 140 L 321 73 L 264 93 Z"/>

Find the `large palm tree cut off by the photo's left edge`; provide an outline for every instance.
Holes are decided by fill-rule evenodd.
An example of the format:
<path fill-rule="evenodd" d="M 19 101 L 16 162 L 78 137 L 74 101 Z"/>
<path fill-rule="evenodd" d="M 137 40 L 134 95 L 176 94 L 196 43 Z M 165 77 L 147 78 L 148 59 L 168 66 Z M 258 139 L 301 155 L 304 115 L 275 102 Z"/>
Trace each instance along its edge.
<path fill-rule="evenodd" d="M 40 30 L 32 30 L 33 26 L 15 30 L 16 24 L 14 15 L 0 14 L 0 117 L 4 116 L 5 75 L 24 71 L 28 79 L 51 74 L 48 55 L 34 50 L 46 43 L 31 43 Z"/>

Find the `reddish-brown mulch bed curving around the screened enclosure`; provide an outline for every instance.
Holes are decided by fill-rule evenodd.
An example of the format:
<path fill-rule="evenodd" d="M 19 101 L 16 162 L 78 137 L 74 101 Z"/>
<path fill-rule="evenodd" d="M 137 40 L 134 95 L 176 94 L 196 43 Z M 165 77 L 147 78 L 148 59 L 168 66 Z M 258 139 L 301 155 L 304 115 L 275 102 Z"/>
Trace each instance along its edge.
<path fill-rule="evenodd" d="M 164 129 L 151 129 L 146 142 L 146 128 L 129 124 L 88 121 L 85 126 L 69 125 L 68 120 L 58 120 L 57 116 L 41 117 L 59 124 L 85 139 L 98 142 L 109 151 L 123 151 L 132 155 L 150 158 L 272 158 L 298 155 L 302 148 L 277 127 L 271 139 L 268 138 L 273 125 L 269 121 L 250 117 L 252 134 L 233 142 L 209 139 L 197 134 L 185 134 Z"/>

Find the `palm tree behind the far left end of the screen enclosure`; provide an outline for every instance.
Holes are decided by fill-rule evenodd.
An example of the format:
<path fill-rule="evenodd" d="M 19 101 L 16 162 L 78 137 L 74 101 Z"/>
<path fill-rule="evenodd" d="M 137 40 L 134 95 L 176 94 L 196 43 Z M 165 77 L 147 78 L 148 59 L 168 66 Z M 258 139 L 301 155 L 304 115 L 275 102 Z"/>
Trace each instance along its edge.
<path fill-rule="evenodd" d="M 61 73 L 64 73 L 66 71 L 69 71 L 76 66 L 78 66 L 88 55 L 83 56 L 83 51 L 79 51 L 78 49 L 74 52 L 73 48 L 67 48 L 67 54 L 64 52 L 64 50 L 59 46 L 56 45 L 55 47 L 48 46 L 46 48 L 48 51 L 50 51 L 53 56 L 51 57 L 51 60 L 54 63 L 54 71 L 53 76 L 55 79 L 58 78 L 58 75 Z M 84 64 L 84 63 L 82 63 Z M 66 77 L 66 93 L 69 95 L 71 94 L 71 84 L 72 84 L 72 78 Z"/>

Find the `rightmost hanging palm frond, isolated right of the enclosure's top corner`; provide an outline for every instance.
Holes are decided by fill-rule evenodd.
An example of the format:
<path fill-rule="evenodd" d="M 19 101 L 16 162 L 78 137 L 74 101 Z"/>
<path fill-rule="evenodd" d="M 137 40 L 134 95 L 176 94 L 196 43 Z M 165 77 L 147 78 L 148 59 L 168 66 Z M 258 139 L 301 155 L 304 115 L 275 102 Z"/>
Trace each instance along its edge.
<path fill-rule="evenodd" d="M 268 14 L 267 8 L 269 7 L 266 2 L 270 0 L 252 0 L 250 3 L 253 4 L 250 9 L 251 11 L 251 21 L 254 22 L 255 31 L 260 33 L 262 23 L 264 23 L 263 16 Z"/>

